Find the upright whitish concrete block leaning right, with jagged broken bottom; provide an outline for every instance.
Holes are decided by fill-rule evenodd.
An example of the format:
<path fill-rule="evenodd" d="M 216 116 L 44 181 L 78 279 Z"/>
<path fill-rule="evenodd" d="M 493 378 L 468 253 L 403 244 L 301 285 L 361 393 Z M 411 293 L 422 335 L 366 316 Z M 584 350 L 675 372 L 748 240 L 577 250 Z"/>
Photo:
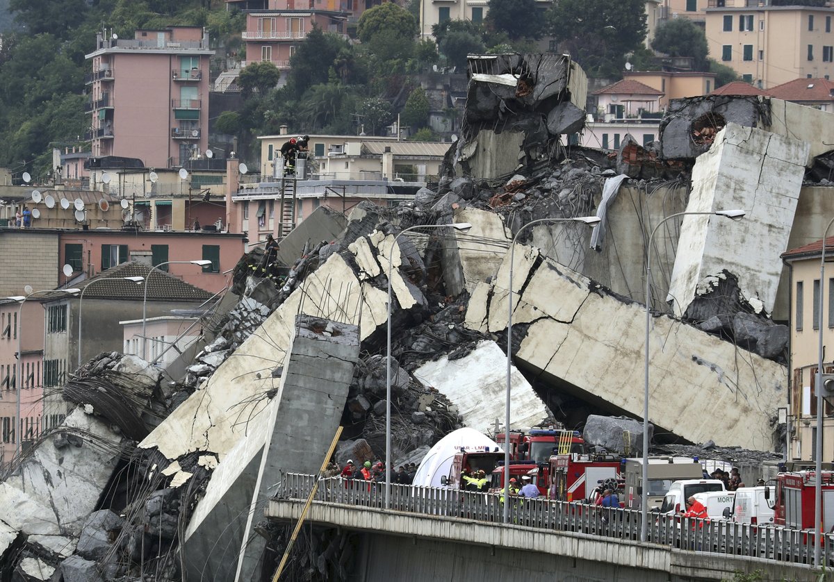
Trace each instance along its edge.
<path fill-rule="evenodd" d="M 681 226 L 668 300 L 686 313 L 701 281 L 726 269 L 742 293 L 770 313 L 787 250 L 808 143 L 728 123 L 696 160 L 686 212 L 741 208 L 746 216 L 686 216 Z"/>

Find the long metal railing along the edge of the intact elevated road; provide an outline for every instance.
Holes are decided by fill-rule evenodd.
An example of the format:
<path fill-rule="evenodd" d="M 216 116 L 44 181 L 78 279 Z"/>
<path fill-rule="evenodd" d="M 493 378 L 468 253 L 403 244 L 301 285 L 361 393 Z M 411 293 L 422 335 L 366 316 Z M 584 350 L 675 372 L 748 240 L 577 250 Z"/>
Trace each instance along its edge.
<path fill-rule="evenodd" d="M 307 499 L 314 475 L 289 473 L 279 483 L 276 499 Z M 475 519 L 502 524 L 504 505 L 499 494 L 457 489 L 391 484 L 391 510 Z M 384 484 L 331 477 L 319 480 L 314 501 L 351 507 L 384 508 Z M 580 502 L 510 497 L 510 524 L 550 531 L 570 531 L 606 538 L 639 540 L 641 512 L 603 508 Z M 815 533 L 775 525 L 737 524 L 727 519 L 681 518 L 649 514 L 649 542 L 679 549 L 713 552 L 793 564 L 812 565 Z M 834 565 L 834 534 L 820 536 L 821 564 Z"/>

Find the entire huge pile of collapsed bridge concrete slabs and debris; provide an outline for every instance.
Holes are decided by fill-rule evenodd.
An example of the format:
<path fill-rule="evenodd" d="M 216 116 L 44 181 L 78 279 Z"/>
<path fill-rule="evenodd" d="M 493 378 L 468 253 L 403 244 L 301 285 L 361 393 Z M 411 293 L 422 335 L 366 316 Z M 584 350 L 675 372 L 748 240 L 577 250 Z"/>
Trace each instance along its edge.
<path fill-rule="evenodd" d="M 581 131 L 585 93 L 570 58 L 470 57 L 461 138 L 436 188 L 349 217 L 319 208 L 267 272 L 260 250 L 242 258 L 239 300 L 183 378 L 121 354 L 86 364 L 64 389 L 78 408 L 2 484 L 12 501 L 0 503 L 0 555 L 12 565 L 0 577 L 11 567 L 24 580 L 252 579 L 286 537 L 261 519 L 265 500 L 288 473 L 318 471 L 339 424 L 339 462 L 384 458 L 388 324 L 394 464 L 419 462 L 460 426 L 491 433 L 503 422 L 510 299 L 511 424 L 584 425 L 591 444 L 639 454 L 645 244 L 671 213 L 747 216 L 727 228 L 669 221 L 650 249 L 654 440 L 739 458 L 733 447 L 784 442 L 779 253 L 801 236 L 803 178 L 830 180 L 829 114 L 765 98 L 681 100 L 659 143 L 627 138 L 610 153 L 562 138 Z M 531 221 L 594 213 L 593 232 L 526 229 L 510 265 Z M 450 223 L 470 230 L 398 236 Z M 67 483 L 48 484 L 58 467 Z M 71 512 L 67 484 L 78 489 Z M 56 517 L 36 523 L 42 510 Z M 319 579 L 344 579 L 344 534 L 315 539 L 303 554 L 317 556 Z M 297 564 L 314 576 L 306 554 Z"/>

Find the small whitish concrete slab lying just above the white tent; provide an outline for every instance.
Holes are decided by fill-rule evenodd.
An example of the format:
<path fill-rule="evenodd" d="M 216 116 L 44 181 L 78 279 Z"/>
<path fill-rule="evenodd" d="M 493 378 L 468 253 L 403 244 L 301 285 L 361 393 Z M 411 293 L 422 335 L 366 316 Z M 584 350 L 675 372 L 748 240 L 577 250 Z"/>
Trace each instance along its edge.
<path fill-rule="evenodd" d="M 505 419 L 506 353 L 492 341 L 482 341 L 464 358 L 443 357 L 414 370 L 414 378 L 437 389 L 455 403 L 464 424 L 481 433 L 495 430 L 495 419 Z M 550 414 L 530 383 L 512 368 L 510 426 L 529 429 Z"/>

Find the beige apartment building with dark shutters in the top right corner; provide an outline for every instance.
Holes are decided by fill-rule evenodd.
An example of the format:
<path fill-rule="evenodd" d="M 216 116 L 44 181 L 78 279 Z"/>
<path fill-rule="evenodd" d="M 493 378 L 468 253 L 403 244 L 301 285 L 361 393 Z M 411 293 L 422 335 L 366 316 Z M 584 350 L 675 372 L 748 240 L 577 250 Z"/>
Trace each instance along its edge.
<path fill-rule="evenodd" d="M 834 74 L 834 8 L 771 6 L 770 0 L 709 0 L 711 58 L 770 89 Z"/>

